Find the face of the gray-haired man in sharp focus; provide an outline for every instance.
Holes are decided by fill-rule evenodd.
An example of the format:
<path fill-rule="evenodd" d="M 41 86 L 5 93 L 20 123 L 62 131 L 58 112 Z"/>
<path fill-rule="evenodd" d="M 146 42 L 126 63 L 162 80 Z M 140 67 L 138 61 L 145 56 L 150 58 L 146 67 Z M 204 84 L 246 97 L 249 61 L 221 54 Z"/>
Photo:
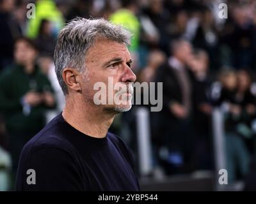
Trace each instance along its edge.
<path fill-rule="evenodd" d="M 84 99 L 95 104 L 95 94 L 106 98 L 106 104 L 100 104 L 104 110 L 115 112 L 128 111 L 132 105 L 132 85 L 136 76 L 131 70 L 132 59 L 127 47 L 116 41 L 99 39 L 86 54 L 85 66 L 88 73 L 84 77 L 82 93 Z M 95 84 L 106 85 L 106 89 L 95 89 Z M 99 83 L 97 83 L 99 84 Z M 117 101 L 117 102 L 116 102 Z"/>

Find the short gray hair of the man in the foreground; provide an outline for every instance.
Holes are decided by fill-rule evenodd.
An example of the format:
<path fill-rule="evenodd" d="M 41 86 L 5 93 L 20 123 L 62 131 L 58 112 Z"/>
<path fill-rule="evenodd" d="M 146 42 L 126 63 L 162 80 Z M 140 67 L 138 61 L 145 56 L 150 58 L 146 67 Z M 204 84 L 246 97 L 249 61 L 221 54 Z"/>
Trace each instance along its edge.
<path fill-rule="evenodd" d="M 85 71 L 86 52 L 99 37 L 125 43 L 128 46 L 131 33 L 121 25 L 112 24 L 104 18 L 75 18 L 61 29 L 54 50 L 54 64 L 58 81 L 65 95 L 68 90 L 62 78 L 63 69 L 74 68 Z"/>

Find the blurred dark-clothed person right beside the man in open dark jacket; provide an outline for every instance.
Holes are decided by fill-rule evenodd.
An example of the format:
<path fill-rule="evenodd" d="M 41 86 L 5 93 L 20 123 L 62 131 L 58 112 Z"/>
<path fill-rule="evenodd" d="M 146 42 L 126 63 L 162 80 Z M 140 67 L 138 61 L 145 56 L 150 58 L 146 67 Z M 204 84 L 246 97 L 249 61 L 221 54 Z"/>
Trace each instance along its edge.
<path fill-rule="evenodd" d="M 195 152 L 193 162 L 196 170 L 213 170 L 211 135 L 211 81 L 208 76 L 209 57 L 204 50 L 195 50 L 189 61 L 193 71 L 193 126 L 195 129 Z"/>

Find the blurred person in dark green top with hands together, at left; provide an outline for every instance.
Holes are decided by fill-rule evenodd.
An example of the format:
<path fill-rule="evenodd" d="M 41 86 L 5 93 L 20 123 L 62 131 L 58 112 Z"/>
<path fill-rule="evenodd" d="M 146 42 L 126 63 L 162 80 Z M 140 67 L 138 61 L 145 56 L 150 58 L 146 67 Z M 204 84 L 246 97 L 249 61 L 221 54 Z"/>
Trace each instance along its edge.
<path fill-rule="evenodd" d="M 36 55 L 35 44 L 19 38 L 15 63 L 0 77 L 0 112 L 10 135 L 13 177 L 23 145 L 44 127 L 45 110 L 55 106 L 51 84 L 35 64 Z"/>

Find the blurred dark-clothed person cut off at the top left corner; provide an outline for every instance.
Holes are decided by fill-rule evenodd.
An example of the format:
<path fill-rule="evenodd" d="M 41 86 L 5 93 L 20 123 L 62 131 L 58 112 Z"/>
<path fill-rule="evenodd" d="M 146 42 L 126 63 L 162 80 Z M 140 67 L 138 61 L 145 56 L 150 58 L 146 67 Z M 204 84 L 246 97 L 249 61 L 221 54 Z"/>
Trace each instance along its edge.
<path fill-rule="evenodd" d="M 0 1 L 0 71 L 12 63 L 13 41 L 21 34 L 19 24 L 12 15 L 15 0 Z"/>

